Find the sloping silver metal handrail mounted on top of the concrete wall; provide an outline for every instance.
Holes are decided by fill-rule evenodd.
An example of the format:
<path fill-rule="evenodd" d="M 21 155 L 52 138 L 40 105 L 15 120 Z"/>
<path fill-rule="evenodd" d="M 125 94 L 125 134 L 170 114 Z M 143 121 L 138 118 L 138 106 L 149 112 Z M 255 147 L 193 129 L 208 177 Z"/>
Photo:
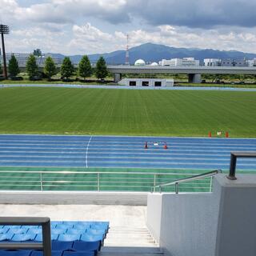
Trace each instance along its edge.
<path fill-rule="evenodd" d="M 151 193 L 153 193 L 155 191 L 155 189 L 157 189 L 157 188 L 159 188 L 159 192 L 161 193 L 163 186 L 175 185 L 175 193 L 178 194 L 178 185 L 180 183 L 191 182 L 191 181 L 199 180 L 199 179 L 202 179 L 202 178 L 213 177 L 214 175 L 221 174 L 221 173 L 222 173 L 222 170 L 212 170 L 212 171 L 210 171 L 208 173 L 205 173 L 205 174 L 198 174 L 198 175 L 195 175 L 195 176 L 191 176 L 189 178 L 178 179 L 177 181 L 174 181 L 174 182 L 169 182 L 169 183 L 161 184 L 161 185 L 158 185 L 158 186 L 152 186 Z"/>

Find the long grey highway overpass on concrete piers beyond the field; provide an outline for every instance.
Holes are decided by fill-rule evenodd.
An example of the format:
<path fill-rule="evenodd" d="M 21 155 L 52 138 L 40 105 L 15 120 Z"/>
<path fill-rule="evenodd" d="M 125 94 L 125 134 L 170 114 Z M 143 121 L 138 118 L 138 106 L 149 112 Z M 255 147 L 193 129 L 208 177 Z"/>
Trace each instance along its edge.
<path fill-rule="evenodd" d="M 108 66 L 114 82 L 122 74 L 188 74 L 189 82 L 201 82 L 202 74 L 255 74 L 256 66 Z"/>

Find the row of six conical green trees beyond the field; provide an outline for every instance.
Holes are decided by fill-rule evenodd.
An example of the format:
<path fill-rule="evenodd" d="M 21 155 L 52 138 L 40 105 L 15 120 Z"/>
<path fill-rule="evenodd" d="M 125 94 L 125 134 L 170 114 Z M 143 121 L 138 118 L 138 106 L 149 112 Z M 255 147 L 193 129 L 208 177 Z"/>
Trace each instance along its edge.
<path fill-rule="evenodd" d="M 10 78 L 16 78 L 20 73 L 18 61 L 14 55 L 12 55 L 10 58 L 9 65 L 8 65 L 8 73 L 10 75 Z M 28 74 L 30 80 L 35 80 L 38 77 L 38 74 L 39 74 L 38 64 L 34 54 L 30 54 L 29 58 L 27 59 L 26 73 Z M 49 80 L 51 80 L 55 74 L 58 74 L 58 69 L 54 63 L 54 59 L 51 58 L 50 56 L 46 58 L 46 61 L 44 63 L 43 73 L 46 75 L 46 77 Z M 90 64 L 90 59 L 86 55 L 83 56 L 80 62 L 78 63 L 78 69 L 76 70 L 74 68 L 74 65 L 70 61 L 70 58 L 66 57 L 62 61 L 60 74 L 61 74 L 62 80 L 64 81 L 68 80 L 74 74 L 77 74 L 78 76 L 86 80 L 86 78 L 90 78 L 90 76 L 93 74 L 93 69 Z M 101 79 L 101 80 L 106 78 L 106 76 L 108 75 L 106 61 L 103 57 L 100 57 L 98 59 L 98 62 L 95 67 L 95 75 L 98 79 Z"/>

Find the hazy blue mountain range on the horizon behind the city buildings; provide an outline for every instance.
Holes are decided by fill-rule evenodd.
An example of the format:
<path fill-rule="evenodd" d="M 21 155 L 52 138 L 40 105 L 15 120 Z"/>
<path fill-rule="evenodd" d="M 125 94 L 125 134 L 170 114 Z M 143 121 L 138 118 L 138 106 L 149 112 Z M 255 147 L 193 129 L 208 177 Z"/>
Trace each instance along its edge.
<path fill-rule="evenodd" d="M 58 58 L 64 58 L 62 54 L 53 54 Z M 107 54 L 91 54 L 89 55 L 90 62 L 97 62 L 98 58 L 103 56 L 106 59 L 107 64 L 117 65 L 124 64 L 126 61 L 126 51 L 117 50 Z M 231 59 L 253 59 L 256 58 L 256 54 L 243 53 L 240 51 L 230 50 L 212 50 L 212 49 L 187 49 L 187 48 L 175 48 L 170 46 L 157 45 L 153 43 L 142 44 L 141 46 L 135 46 L 130 49 L 130 63 L 134 62 L 138 58 L 142 58 L 145 62 L 159 62 L 163 58 L 186 58 L 194 57 L 200 62 L 203 62 L 204 58 L 231 58 Z M 78 63 L 82 55 L 70 56 L 70 59 L 74 63 Z"/>

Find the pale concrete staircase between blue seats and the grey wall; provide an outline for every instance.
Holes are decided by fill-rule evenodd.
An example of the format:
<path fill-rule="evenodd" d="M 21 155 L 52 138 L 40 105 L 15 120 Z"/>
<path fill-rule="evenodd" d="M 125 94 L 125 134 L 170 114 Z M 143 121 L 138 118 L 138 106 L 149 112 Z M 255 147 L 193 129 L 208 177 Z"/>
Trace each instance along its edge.
<path fill-rule="evenodd" d="M 99 256 L 161 256 L 158 244 L 142 227 L 111 227 Z"/>

